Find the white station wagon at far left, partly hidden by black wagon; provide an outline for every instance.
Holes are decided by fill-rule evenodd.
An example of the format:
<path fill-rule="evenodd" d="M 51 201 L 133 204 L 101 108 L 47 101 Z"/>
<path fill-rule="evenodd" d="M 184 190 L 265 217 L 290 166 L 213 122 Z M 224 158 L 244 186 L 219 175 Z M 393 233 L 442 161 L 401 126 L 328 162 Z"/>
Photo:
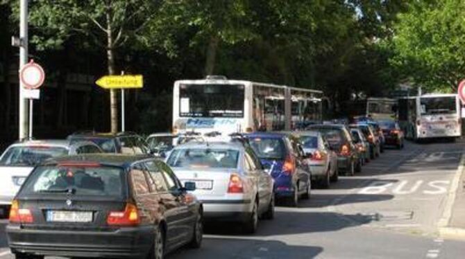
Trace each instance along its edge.
<path fill-rule="evenodd" d="M 8 214 L 13 197 L 34 166 L 51 157 L 101 153 L 92 142 L 60 140 L 22 141 L 8 147 L 0 157 L 0 217 Z"/>

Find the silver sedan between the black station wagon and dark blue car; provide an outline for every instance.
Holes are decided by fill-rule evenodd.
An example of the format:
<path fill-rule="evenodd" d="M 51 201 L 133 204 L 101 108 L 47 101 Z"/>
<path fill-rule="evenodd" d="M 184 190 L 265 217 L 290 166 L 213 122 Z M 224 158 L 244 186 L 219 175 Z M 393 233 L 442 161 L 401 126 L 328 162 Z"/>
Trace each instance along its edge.
<path fill-rule="evenodd" d="M 186 143 L 171 151 L 167 163 L 181 182 L 196 184 L 205 220 L 242 222 L 247 233 L 255 233 L 259 217 L 273 218 L 273 179 L 251 148 Z"/>

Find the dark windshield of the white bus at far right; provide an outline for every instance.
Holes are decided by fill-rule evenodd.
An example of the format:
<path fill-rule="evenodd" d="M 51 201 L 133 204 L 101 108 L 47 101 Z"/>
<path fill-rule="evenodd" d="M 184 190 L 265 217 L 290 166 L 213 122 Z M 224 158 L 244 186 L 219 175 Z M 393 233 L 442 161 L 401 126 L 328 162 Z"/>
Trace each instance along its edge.
<path fill-rule="evenodd" d="M 421 115 L 455 114 L 455 96 L 421 98 Z"/>

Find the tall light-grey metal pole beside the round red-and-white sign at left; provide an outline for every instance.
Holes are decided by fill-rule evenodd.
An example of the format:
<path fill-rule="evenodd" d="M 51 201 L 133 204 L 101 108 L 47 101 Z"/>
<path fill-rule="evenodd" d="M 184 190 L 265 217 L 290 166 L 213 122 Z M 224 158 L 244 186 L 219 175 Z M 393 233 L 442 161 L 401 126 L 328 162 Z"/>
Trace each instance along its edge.
<path fill-rule="evenodd" d="M 28 62 L 28 0 L 19 0 L 19 68 Z M 19 80 L 19 139 L 28 136 L 28 103 L 24 98 L 24 84 Z"/>

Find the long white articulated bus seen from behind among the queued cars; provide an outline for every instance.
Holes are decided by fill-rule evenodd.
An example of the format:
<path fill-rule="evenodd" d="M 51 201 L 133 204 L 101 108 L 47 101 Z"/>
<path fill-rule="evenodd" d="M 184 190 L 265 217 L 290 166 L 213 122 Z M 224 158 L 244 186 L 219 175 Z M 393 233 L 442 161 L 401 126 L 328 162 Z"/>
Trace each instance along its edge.
<path fill-rule="evenodd" d="M 179 80 L 173 89 L 173 131 L 293 130 L 321 123 L 323 92 L 209 76 Z"/>

